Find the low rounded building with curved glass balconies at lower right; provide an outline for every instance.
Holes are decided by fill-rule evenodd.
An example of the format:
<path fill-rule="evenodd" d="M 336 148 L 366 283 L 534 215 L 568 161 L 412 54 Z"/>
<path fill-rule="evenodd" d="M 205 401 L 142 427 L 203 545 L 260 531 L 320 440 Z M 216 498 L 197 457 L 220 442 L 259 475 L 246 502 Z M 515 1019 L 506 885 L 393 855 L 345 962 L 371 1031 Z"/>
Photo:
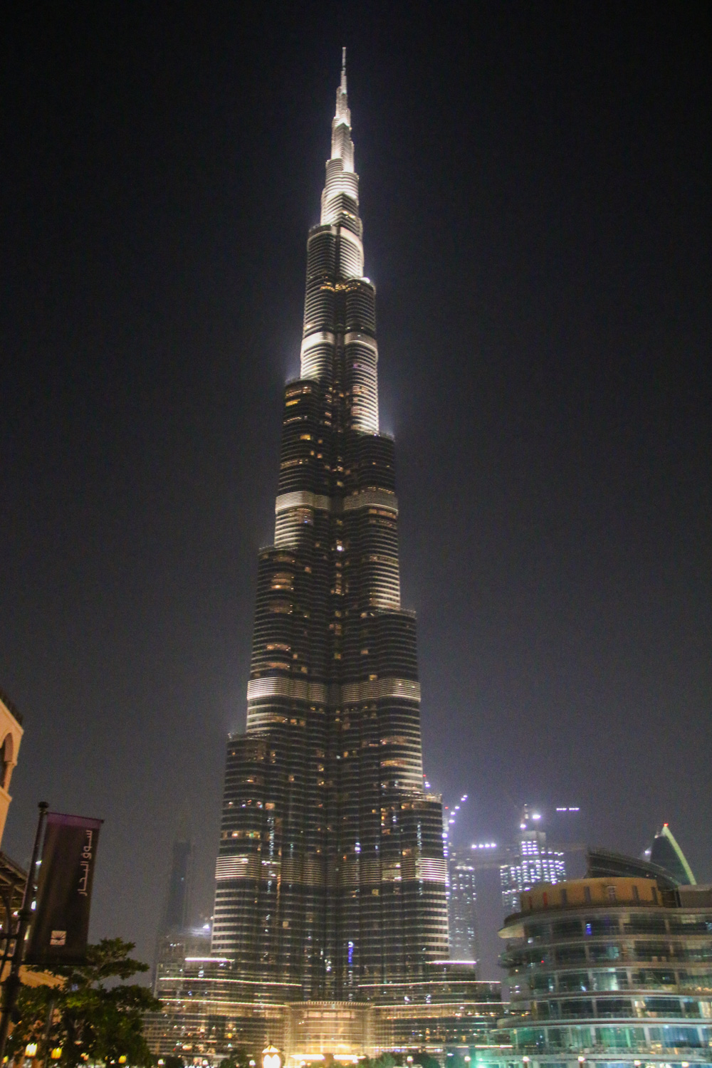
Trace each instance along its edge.
<path fill-rule="evenodd" d="M 536 886 L 521 909 L 500 931 L 507 1064 L 712 1064 L 710 888 L 582 879 Z"/>

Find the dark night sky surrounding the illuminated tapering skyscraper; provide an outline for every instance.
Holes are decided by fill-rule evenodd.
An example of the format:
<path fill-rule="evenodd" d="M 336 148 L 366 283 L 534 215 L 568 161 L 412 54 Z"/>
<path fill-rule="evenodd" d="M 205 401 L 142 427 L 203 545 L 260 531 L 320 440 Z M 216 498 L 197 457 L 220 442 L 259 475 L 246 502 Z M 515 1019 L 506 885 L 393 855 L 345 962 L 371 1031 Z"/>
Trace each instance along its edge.
<path fill-rule="evenodd" d="M 94 937 L 151 955 L 183 813 L 210 909 L 343 44 L 428 775 L 712 880 L 708 19 L 4 7 L 3 846 L 104 817 Z"/>

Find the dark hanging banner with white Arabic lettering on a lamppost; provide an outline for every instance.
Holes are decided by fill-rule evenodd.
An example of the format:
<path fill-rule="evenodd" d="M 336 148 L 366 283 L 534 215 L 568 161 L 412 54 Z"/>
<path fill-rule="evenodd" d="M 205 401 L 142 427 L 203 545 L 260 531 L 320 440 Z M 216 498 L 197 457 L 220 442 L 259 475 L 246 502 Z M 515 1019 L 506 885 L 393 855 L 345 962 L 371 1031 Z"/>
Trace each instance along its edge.
<path fill-rule="evenodd" d="M 47 813 L 26 964 L 82 964 L 96 847 L 104 820 Z"/>

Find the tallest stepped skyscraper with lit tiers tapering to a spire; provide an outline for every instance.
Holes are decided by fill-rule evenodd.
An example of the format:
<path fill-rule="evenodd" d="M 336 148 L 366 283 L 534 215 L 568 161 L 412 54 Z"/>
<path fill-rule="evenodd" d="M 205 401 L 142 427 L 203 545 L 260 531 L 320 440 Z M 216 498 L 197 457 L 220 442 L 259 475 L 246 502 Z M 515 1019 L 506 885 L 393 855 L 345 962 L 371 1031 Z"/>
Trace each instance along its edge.
<path fill-rule="evenodd" d="M 227 745 L 212 954 L 255 990 L 362 1000 L 447 957 L 442 805 L 423 788 L 346 69 L 308 234 L 247 729 Z"/>

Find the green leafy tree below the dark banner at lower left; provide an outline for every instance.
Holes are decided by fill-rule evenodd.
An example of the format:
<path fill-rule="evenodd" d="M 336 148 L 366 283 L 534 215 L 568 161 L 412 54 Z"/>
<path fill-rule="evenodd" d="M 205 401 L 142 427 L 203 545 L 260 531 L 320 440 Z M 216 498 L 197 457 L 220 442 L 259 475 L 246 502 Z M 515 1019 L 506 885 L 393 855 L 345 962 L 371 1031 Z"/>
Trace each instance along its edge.
<path fill-rule="evenodd" d="M 62 1049 L 59 1064 L 63 1068 L 77 1068 L 88 1059 L 118 1064 L 124 1056 L 128 1065 L 152 1064 L 143 1037 L 143 1014 L 160 1008 L 160 1002 L 138 984 L 107 986 L 107 980 L 125 980 L 148 971 L 147 964 L 128 956 L 132 948 L 133 943 L 123 939 L 102 939 L 88 946 L 85 964 L 52 969 L 63 979 L 61 986 L 23 986 L 9 1055 L 17 1057 L 27 1042 L 42 1042 L 47 1034 L 48 1045 Z"/>

